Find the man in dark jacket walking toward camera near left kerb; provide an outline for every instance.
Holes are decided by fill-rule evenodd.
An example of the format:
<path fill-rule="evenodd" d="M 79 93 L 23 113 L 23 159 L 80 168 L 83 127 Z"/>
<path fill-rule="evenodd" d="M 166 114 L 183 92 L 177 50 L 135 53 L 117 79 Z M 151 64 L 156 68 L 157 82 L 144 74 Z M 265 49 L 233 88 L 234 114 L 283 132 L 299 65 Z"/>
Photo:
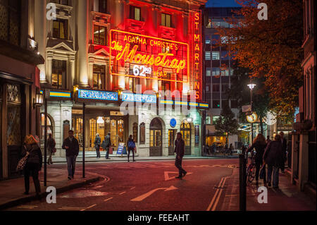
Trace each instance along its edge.
<path fill-rule="evenodd" d="M 74 137 L 74 131 L 68 131 L 68 138 L 66 138 L 62 145 L 63 150 L 66 150 L 66 160 L 68 166 L 68 180 L 74 178 L 76 157 L 79 153 L 78 140 Z"/>

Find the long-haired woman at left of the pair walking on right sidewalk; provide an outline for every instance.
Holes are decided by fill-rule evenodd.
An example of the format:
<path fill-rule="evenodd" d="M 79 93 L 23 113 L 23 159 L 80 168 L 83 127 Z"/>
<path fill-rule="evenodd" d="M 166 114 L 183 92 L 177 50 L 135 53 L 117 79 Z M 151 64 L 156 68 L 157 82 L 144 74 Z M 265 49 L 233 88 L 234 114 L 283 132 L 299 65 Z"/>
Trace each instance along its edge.
<path fill-rule="evenodd" d="M 263 154 L 266 150 L 266 138 L 259 133 L 256 138 L 254 139 L 251 147 L 247 150 L 247 152 L 251 152 L 251 150 L 256 150 L 255 154 L 255 164 L 256 164 L 256 185 L 259 184 L 259 172 L 261 170 L 261 167 L 264 166 L 264 173 L 265 171 L 265 164 L 263 164 Z M 266 184 L 266 174 L 264 174 L 263 178 L 264 185 Z"/>

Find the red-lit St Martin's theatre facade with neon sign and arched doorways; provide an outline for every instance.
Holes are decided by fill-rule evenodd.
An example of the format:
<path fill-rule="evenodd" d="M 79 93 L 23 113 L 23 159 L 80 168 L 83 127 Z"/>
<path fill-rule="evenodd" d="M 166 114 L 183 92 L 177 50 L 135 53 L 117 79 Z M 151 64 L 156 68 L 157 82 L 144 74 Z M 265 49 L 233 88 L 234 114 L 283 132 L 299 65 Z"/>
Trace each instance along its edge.
<path fill-rule="evenodd" d="M 49 3 L 56 19 L 47 18 Z M 209 108 L 202 92 L 205 3 L 35 0 L 46 59 L 38 66 L 41 90 L 56 156 L 65 155 L 70 129 L 86 151 L 94 151 L 97 133 L 101 140 L 111 133 L 113 151 L 133 135 L 137 154 L 147 157 L 173 155 L 181 132 L 185 154 L 201 155 Z"/>

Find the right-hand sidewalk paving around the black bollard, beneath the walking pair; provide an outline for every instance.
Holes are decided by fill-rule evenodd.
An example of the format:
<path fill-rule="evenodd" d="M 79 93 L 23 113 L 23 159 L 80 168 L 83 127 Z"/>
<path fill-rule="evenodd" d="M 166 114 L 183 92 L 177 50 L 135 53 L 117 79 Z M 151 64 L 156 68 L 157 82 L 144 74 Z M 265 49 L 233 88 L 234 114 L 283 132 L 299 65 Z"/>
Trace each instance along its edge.
<path fill-rule="evenodd" d="M 257 190 L 263 186 L 263 180 L 259 180 L 259 186 L 255 181 L 247 186 L 247 211 L 316 211 L 316 199 L 312 199 L 296 186 L 290 183 L 287 174 L 280 173 L 279 189 L 268 188 L 268 203 L 258 202 Z M 228 179 L 225 192 L 223 211 L 239 211 L 239 168 L 234 169 Z"/>

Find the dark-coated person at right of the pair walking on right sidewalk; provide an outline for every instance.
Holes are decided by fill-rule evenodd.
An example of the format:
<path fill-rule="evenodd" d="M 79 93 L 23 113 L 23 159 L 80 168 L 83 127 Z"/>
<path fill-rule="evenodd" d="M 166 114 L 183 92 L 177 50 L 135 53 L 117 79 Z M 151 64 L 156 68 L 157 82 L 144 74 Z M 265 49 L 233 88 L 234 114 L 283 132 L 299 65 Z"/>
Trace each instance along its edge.
<path fill-rule="evenodd" d="M 275 140 L 271 141 L 266 147 L 263 154 L 263 160 L 268 164 L 268 186 L 271 186 L 273 172 L 273 188 L 278 188 L 279 170 L 284 164 L 284 154 L 282 152 L 282 142 L 280 135 L 275 136 Z"/>

